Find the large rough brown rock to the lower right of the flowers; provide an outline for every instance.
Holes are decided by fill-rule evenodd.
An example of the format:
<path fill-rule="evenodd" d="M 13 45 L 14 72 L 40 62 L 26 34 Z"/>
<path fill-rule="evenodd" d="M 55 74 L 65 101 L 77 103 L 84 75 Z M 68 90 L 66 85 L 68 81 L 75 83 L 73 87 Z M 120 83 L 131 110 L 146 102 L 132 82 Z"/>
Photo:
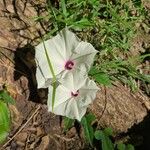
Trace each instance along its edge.
<path fill-rule="evenodd" d="M 101 127 L 111 127 L 116 134 L 143 121 L 150 110 L 150 99 L 140 90 L 132 93 L 119 83 L 100 89 L 90 111 Z"/>

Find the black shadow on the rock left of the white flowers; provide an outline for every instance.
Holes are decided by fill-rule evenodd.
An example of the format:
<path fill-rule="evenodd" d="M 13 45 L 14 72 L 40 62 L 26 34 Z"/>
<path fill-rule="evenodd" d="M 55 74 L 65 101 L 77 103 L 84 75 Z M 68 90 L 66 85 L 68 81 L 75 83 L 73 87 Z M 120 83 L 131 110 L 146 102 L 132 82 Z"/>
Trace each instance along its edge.
<path fill-rule="evenodd" d="M 14 61 L 14 79 L 18 80 L 21 76 L 25 76 L 28 79 L 28 87 L 30 91 L 29 100 L 37 103 L 46 103 L 47 89 L 37 89 L 34 47 L 27 44 L 22 48 L 17 48 L 15 51 Z"/>

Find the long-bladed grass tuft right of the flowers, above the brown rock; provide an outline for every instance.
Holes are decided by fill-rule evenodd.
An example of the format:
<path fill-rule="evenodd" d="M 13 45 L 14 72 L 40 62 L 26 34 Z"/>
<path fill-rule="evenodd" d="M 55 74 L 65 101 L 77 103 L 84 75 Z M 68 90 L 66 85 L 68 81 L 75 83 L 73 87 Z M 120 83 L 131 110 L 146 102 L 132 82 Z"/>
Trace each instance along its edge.
<path fill-rule="evenodd" d="M 104 58 L 100 58 L 101 60 L 96 67 L 91 68 L 89 74 L 95 78 L 95 80 L 104 85 L 109 85 L 111 80 L 120 80 L 121 82 L 127 84 L 131 87 L 132 91 L 137 90 L 136 81 L 140 80 L 143 83 L 150 83 L 150 76 L 144 75 L 139 72 L 137 66 L 145 59 L 148 58 L 149 54 L 137 56 L 137 57 L 130 57 L 127 60 L 123 60 L 119 57 L 116 57 L 112 60 L 104 60 Z M 100 78 L 99 74 L 105 75 L 105 78 Z M 109 80 L 106 80 L 108 77 Z M 100 80 L 100 82 L 99 82 Z M 101 81 L 102 80 L 102 81 Z"/>

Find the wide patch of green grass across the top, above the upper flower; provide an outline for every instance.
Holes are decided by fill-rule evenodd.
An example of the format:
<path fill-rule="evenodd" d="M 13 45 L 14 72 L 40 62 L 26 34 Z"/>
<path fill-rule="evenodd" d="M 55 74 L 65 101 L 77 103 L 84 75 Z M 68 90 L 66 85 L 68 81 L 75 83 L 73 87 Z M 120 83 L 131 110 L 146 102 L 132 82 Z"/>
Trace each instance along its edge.
<path fill-rule="evenodd" d="M 90 35 L 96 30 L 94 41 L 102 50 L 112 52 L 115 49 L 129 49 L 129 40 L 135 33 L 135 23 L 140 19 L 133 16 L 131 11 L 139 11 L 141 6 L 131 7 L 130 0 L 126 3 L 99 0 L 61 0 L 59 7 L 54 7 L 48 0 L 48 15 L 35 17 L 35 21 L 48 20 L 50 31 L 56 31 L 68 26 L 74 30 L 88 31 Z M 134 8 L 134 9 L 133 9 Z M 140 10 L 141 10 L 140 9 Z M 95 31 L 94 31 L 95 32 Z M 96 39 L 96 40 L 95 40 Z"/>

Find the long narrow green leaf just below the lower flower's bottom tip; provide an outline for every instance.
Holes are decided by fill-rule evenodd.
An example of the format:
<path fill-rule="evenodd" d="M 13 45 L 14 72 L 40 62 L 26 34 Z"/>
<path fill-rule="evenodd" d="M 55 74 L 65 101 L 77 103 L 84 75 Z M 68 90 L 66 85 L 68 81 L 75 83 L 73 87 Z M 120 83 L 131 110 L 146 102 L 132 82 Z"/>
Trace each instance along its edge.
<path fill-rule="evenodd" d="M 91 123 L 95 120 L 95 116 L 93 114 L 88 114 L 84 116 L 81 120 L 81 124 L 84 129 L 84 135 L 87 142 L 93 146 L 93 139 L 94 139 L 94 129 Z"/>

